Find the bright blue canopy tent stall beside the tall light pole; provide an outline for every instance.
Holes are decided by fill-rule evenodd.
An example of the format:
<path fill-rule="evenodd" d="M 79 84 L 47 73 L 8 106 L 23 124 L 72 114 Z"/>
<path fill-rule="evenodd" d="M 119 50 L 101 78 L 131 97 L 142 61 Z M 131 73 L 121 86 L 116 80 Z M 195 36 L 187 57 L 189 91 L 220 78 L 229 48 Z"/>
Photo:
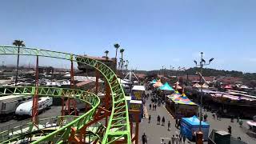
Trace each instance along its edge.
<path fill-rule="evenodd" d="M 195 134 L 199 131 L 199 119 L 194 115 L 191 118 L 182 118 L 181 134 L 185 135 L 190 140 L 195 140 Z M 203 140 L 208 140 L 210 125 L 207 122 L 202 122 Z"/>

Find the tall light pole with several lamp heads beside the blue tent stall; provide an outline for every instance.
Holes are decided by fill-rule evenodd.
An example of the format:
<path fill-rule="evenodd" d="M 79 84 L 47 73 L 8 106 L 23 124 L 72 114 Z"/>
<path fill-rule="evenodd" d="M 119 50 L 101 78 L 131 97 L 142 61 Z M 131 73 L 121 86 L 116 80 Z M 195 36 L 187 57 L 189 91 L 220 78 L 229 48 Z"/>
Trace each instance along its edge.
<path fill-rule="evenodd" d="M 214 60 L 214 58 L 210 58 L 209 63 L 206 63 L 206 61 L 202 58 L 202 55 L 203 55 L 203 52 L 201 52 L 201 61 L 199 62 L 199 64 L 198 64 L 197 61 L 194 60 L 195 65 L 200 67 L 200 72 L 197 72 L 197 74 L 199 74 L 199 76 L 200 76 L 200 82 L 201 82 L 200 115 L 199 115 L 199 118 L 200 118 L 199 131 L 200 132 L 202 132 L 202 85 L 203 85 L 203 82 L 202 82 L 202 67 L 210 65 L 210 62 L 212 62 Z"/>

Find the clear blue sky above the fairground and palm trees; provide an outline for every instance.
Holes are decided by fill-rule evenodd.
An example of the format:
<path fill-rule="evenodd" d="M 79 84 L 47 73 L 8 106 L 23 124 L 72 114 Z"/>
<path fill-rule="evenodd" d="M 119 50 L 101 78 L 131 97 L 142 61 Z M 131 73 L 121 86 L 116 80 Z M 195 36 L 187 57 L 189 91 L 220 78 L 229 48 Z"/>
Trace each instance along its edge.
<path fill-rule="evenodd" d="M 29 47 L 114 57 L 118 42 L 138 70 L 191 67 L 203 51 L 215 58 L 211 68 L 255 72 L 255 7 L 255 0 L 9 0 L 1 2 L 0 45 L 22 39 Z M 55 61 L 40 63 L 62 63 Z"/>

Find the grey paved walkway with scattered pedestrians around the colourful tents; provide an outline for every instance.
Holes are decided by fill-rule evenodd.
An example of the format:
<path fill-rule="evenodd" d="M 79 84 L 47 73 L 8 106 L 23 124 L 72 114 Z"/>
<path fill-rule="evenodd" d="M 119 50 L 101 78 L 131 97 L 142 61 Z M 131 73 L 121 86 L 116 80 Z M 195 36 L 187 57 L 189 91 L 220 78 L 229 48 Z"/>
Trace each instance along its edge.
<path fill-rule="evenodd" d="M 165 143 L 168 144 L 170 138 L 172 135 L 179 134 L 180 130 L 178 130 L 175 127 L 175 120 L 172 117 L 171 114 L 166 110 L 165 105 L 157 106 L 157 110 L 150 110 L 150 98 L 146 100 L 146 106 L 144 107 L 144 111 L 146 112 L 146 118 L 142 118 L 142 122 L 139 125 L 139 141 L 142 143 L 142 134 L 145 133 L 148 139 L 148 144 L 160 144 L 161 139 L 165 139 Z M 210 130 L 214 128 L 215 130 L 226 130 L 228 126 L 232 126 L 232 136 L 234 138 L 241 137 L 243 141 L 247 142 L 248 144 L 255 144 L 256 139 L 250 138 L 247 134 L 245 134 L 244 130 L 239 127 L 236 120 L 234 122 L 230 122 L 230 118 L 222 118 L 221 121 L 214 120 L 212 118 L 212 114 L 210 112 L 204 112 L 208 114 L 208 122 L 210 123 Z M 151 115 L 151 122 L 149 123 L 147 115 Z M 158 115 L 161 117 L 164 116 L 166 120 L 166 125 L 161 126 L 157 125 L 157 117 Z M 170 131 L 167 130 L 167 123 L 170 121 Z M 162 123 L 162 122 L 161 122 Z M 244 126 L 246 126 L 246 121 L 243 123 Z M 195 143 L 195 142 L 189 142 L 188 139 L 186 139 L 186 143 Z M 208 143 L 208 142 L 204 142 Z"/>

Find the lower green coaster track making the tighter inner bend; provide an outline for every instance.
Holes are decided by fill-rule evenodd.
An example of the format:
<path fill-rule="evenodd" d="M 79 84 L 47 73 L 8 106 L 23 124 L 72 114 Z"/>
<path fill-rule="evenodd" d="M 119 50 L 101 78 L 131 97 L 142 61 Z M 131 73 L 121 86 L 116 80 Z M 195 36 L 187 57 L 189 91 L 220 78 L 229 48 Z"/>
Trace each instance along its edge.
<path fill-rule="evenodd" d="M 36 91 L 36 87 L 34 86 L 18 86 L 18 87 L 9 87 L 9 88 L 0 88 L 0 97 L 6 96 L 6 95 L 14 95 L 14 94 L 22 94 L 24 97 L 28 95 L 34 95 Z M 42 142 L 66 142 L 69 138 L 69 134 L 71 132 L 71 127 L 76 127 L 77 130 L 81 130 L 82 126 L 90 122 L 92 118 L 94 117 L 94 114 L 97 110 L 97 107 L 99 106 L 100 99 L 97 95 L 86 92 L 85 90 L 74 90 L 74 89 L 65 89 L 65 88 L 58 88 L 58 87 L 38 87 L 38 96 L 50 96 L 50 97 L 66 97 L 66 98 L 76 98 L 79 99 L 81 102 L 89 104 L 92 108 L 86 112 L 86 114 L 82 114 L 82 116 L 78 118 L 74 118 L 73 116 L 66 116 L 62 117 L 64 121 L 66 121 L 66 125 L 59 124 L 60 128 L 58 130 L 55 130 L 54 132 L 47 134 L 45 136 L 42 136 L 41 139 L 39 139 L 36 142 L 32 143 L 42 143 Z M 60 119 L 59 117 L 58 119 Z M 70 120 L 71 118 L 71 120 Z M 67 123 L 68 122 L 68 123 Z M 38 129 L 34 129 L 33 125 L 27 124 L 27 126 L 23 127 L 29 127 L 29 130 L 26 130 L 26 133 L 29 134 L 33 133 L 35 130 L 41 132 Z M 11 131 L 15 130 L 21 130 L 22 127 L 16 127 Z M 22 138 L 21 134 L 14 134 L 12 136 L 9 136 L 10 130 L 5 130 L 0 132 L 0 137 L 4 139 L 2 143 L 10 143 L 13 141 L 16 141 L 18 139 Z M 9 139 L 5 139 L 6 137 L 9 137 Z M 0 139 L 1 139 L 0 138 Z"/>

